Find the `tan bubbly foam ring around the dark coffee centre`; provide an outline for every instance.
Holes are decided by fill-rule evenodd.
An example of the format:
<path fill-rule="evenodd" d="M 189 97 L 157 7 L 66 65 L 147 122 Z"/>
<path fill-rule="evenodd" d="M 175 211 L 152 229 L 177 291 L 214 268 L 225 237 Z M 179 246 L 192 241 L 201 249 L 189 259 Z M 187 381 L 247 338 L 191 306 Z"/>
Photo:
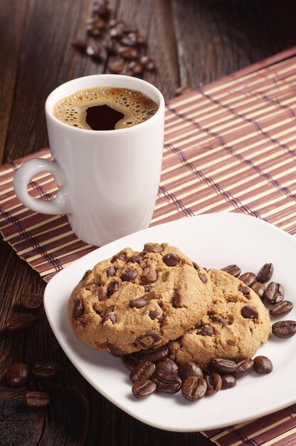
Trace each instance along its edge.
<path fill-rule="evenodd" d="M 116 87 L 95 87 L 79 90 L 56 103 L 53 115 L 72 127 L 93 130 L 86 122 L 87 110 L 95 105 L 108 105 L 124 114 L 115 130 L 144 123 L 151 118 L 159 106 L 149 96 L 137 90 Z"/>

